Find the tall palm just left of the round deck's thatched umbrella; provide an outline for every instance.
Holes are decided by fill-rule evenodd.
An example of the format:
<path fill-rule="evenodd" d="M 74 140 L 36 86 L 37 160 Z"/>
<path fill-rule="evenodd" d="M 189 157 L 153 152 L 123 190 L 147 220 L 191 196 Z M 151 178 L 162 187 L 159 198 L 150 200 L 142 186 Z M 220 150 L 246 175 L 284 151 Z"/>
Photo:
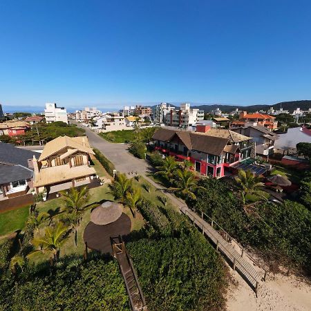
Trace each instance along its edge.
<path fill-rule="evenodd" d="M 75 246 L 77 246 L 77 227 L 84 212 L 95 207 L 95 204 L 87 204 L 90 198 L 87 187 L 82 187 L 81 189 L 72 187 L 68 192 L 60 191 L 60 194 L 62 194 L 62 200 L 65 202 L 65 207 L 62 211 L 66 216 L 66 220 L 73 226 Z"/>

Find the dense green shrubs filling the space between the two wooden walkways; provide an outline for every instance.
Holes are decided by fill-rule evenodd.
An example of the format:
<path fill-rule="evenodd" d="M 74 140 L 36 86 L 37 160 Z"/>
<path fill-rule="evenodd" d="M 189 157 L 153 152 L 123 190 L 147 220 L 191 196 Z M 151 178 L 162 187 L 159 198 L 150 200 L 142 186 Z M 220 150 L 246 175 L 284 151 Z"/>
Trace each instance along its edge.
<path fill-rule="evenodd" d="M 213 247 L 176 211 L 146 200 L 138 209 L 149 225 L 126 247 L 148 309 L 222 309 L 226 268 Z"/>

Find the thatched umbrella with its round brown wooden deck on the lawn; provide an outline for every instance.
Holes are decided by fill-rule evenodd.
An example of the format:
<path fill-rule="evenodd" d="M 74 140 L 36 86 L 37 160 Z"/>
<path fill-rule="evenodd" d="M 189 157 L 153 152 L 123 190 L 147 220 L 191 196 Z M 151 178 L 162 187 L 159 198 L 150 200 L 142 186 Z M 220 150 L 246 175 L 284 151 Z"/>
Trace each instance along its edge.
<path fill-rule="evenodd" d="M 91 212 L 83 239 L 88 248 L 112 254 L 111 238 L 126 236 L 130 232 L 131 219 L 123 213 L 123 205 L 106 201 Z"/>

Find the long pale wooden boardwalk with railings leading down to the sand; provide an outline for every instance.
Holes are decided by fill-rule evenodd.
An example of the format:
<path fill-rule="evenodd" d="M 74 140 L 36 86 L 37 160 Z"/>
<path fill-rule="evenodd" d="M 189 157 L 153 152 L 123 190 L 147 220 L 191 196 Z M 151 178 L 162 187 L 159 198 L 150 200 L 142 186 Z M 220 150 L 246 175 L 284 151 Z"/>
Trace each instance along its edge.
<path fill-rule="evenodd" d="M 231 263 L 232 268 L 237 270 L 255 292 L 258 290 L 258 285 L 261 279 L 265 279 L 265 272 L 261 273 L 254 269 L 254 266 L 243 258 L 243 252 L 239 254 L 236 249 L 221 236 L 214 227 L 211 227 L 207 221 L 200 218 L 195 211 L 192 211 L 185 205 L 180 207 L 180 211 L 187 215 L 190 220 L 202 230 L 202 234 L 207 236 Z M 246 256 L 246 255 L 244 255 Z"/>

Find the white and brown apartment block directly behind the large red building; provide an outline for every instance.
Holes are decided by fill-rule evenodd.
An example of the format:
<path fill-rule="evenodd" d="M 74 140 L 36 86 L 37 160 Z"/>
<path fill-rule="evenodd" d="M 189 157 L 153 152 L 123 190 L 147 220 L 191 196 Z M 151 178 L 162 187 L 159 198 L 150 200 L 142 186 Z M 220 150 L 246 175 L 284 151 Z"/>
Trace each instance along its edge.
<path fill-rule="evenodd" d="M 171 109 L 165 117 L 165 124 L 187 129 L 196 122 L 204 120 L 204 111 L 191 109 L 190 104 L 181 104 L 180 109 Z"/>

